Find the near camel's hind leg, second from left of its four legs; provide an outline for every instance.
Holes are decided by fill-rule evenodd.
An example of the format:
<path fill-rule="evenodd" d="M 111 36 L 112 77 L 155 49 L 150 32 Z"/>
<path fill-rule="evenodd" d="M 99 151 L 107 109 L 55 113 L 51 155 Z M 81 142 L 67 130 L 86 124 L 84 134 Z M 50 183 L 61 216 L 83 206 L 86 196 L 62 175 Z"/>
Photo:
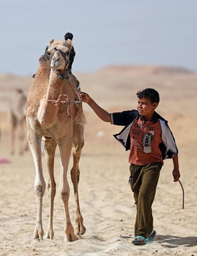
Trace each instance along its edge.
<path fill-rule="evenodd" d="M 54 157 L 57 143 L 52 138 L 42 138 L 43 147 L 45 150 L 46 163 L 49 173 L 48 180 L 48 196 L 49 196 L 49 224 L 45 237 L 53 239 L 53 209 L 54 209 L 54 198 L 56 194 L 56 183 L 54 179 Z"/>

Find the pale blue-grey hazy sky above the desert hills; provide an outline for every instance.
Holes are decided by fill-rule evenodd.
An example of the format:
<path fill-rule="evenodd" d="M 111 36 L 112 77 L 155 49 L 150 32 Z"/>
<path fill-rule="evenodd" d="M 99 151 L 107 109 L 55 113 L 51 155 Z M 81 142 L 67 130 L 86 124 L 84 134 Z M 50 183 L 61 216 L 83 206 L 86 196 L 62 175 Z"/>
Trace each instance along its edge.
<path fill-rule="evenodd" d="M 73 73 L 110 65 L 197 72 L 196 0 L 6 0 L 0 3 L 0 74 L 29 76 L 49 41 L 74 35 Z"/>

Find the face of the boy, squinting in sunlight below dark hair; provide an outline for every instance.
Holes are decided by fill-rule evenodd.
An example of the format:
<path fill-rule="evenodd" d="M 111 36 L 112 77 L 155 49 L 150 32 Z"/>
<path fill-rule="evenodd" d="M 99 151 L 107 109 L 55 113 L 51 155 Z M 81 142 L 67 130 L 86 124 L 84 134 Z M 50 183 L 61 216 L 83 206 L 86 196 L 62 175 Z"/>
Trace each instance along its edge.
<path fill-rule="evenodd" d="M 141 99 L 138 99 L 137 110 L 139 114 L 142 116 L 150 116 L 154 114 L 154 111 L 157 108 L 157 106 L 158 106 L 157 102 L 152 103 L 147 98 L 141 98 Z"/>

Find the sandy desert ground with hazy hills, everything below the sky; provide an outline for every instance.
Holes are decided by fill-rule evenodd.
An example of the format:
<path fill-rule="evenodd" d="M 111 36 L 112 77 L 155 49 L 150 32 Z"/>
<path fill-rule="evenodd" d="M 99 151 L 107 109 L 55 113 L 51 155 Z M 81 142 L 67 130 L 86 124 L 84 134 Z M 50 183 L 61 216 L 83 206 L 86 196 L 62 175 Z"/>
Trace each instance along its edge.
<path fill-rule="evenodd" d="M 54 240 L 33 240 L 36 222 L 35 168 L 30 151 L 10 155 L 8 102 L 14 89 L 28 91 L 31 77 L 0 75 L 0 255 L 197 255 L 196 221 L 196 82 L 197 74 L 157 67 L 110 67 L 92 74 L 77 74 L 81 88 L 108 112 L 135 109 L 136 92 L 152 87 L 159 91 L 158 113 L 168 121 L 179 148 L 181 182 L 172 178 L 172 160 L 165 160 L 153 209 L 154 243 L 135 246 L 136 209 L 128 185 L 128 152 L 113 134 L 122 127 L 102 122 L 83 104 L 87 119 L 85 145 L 80 160 L 79 198 L 86 233 L 76 242 L 64 242 L 64 214 L 59 194 L 54 205 Z M 16 143 L 17 144 L 17 143 Z M 17 145 L 16 145 L 17 146 Z M 43 169 L 48 179 L 45 157 Z M 69 169 L 72 167 L 72 156 Z M 72 182 L 70 215 L 74 225 Z M 59 152 L 55 156 L 55 179 L 60 180 Z M 47 229 L 49 200 L 43 199 L 43 228 Z"/>

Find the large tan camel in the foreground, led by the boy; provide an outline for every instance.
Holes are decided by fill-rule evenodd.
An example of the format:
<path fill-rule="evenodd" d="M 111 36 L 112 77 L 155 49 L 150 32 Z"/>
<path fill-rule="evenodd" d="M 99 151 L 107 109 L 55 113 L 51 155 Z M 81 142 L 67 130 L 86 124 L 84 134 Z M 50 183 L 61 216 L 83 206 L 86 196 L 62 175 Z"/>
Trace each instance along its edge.
<path fill-rule="evenodd" d="M 65 242 L 80 239 L 85 233 L 83 218 L 79 207 L 78 183 L 79 160 L 84 145 L 84 124 L 82 103 L 78 97 L 78 80 L 68 73 L 69 54 L 72 41 L 50 41 L 46 54 L 39 59 L 39 68 L 29 88 L 26 115 L 27 138 L 34 159 L 36 177 L 34 182 L 37 196 L 37 220 L 34 229 L 34 239 L 43 239 L 42 228 L 42 198 L 46 183 L 41 164 L 41 141 L 45 151 L 48 168 L 49 224 L 46 238 L 53 239 L 53 209 L 56 194 L 54 179 L 54 156 L 56 146 L 60 152 L 60 184 L 59 194 L 63 202 L 65 216 Z M 71 180 L 74 187 L 76 204 L 75 229 L 69 214 L 70 187 L 67 179 L 68 165 L 73 148 L 73 167 Z"/>

